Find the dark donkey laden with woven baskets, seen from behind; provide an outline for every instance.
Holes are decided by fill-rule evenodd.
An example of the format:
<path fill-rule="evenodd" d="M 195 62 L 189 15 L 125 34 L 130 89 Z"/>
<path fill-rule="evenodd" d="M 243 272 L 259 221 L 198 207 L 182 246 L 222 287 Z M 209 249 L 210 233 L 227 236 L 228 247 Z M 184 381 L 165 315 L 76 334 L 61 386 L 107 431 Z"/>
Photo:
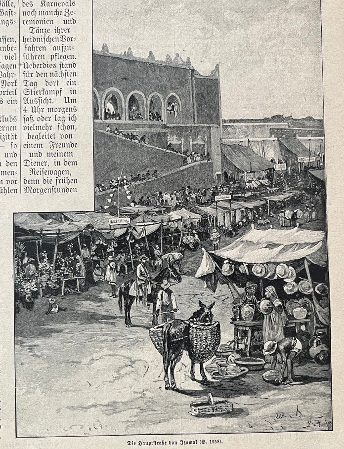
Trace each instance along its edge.
<path fill-rule="evenodd" d="M 213 312 L 212 309 L 215 302 L 207 307 L 202 301 L 199 301 L 200 309 L 194 312 L 192 317 L 187 321 L 171 320 L 163 327 L 163 341 L 164 341 L 164 371 L 165 371 L 165 389 L 175 390 L 177 388 L 174 379 L 174 368 L 180 361 L 183 351 L 187 351 L 191 360 L 190 377 L 191 380 L 196 380 L 195 377 L 195 361 L 190 354 L 189 346 L 189 323 L 212 323 Z M 169 368 L 171 371 L 171 382 L 169 381 Z M 206 382 L 207 375 L 204 371 L 203 363 L 200 363 L 200 372 L 202 380 Z"/>

